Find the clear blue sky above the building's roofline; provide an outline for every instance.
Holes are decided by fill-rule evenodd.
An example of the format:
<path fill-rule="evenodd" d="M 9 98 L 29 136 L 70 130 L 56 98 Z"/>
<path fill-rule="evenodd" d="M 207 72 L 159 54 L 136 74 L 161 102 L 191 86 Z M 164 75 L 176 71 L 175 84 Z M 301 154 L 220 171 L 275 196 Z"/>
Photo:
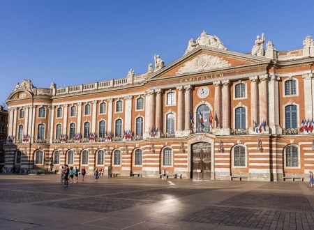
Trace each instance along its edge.
<path fill-rule="evenodd" d="M 265 33 L 276 49 L 314 37 L 313 1 L 0 1 L 0 103 L 16 82 L 57 87 L 146 72 L 202 30 L 236 52 Z"/>

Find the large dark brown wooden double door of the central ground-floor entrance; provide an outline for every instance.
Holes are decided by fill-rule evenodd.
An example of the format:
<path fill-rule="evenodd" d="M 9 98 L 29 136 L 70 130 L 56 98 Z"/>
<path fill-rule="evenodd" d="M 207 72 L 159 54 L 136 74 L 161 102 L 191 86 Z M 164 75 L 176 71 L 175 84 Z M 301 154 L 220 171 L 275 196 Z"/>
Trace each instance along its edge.
<path fill-rule="evenodd" d="M 191 146 L 190 178 L 211 179 L 211 143 L 197 142 Z"/>

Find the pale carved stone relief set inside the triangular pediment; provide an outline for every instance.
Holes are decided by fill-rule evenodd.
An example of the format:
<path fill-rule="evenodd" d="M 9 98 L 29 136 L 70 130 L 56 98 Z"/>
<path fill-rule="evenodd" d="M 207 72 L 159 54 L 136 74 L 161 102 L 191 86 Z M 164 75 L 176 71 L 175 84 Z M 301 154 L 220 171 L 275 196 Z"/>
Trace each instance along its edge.
<path fill-rule="evenodd" d="M 179 68 L 176 75 L 181 75 L 188 72 L 200 72 L 205 70 L 214 70 L 217 68 L 225 68 L 231 66 L 230 63 L 218 56 L 208 54 L 200 54 L 195 59 L 187 61 L 184 66 Z"/>

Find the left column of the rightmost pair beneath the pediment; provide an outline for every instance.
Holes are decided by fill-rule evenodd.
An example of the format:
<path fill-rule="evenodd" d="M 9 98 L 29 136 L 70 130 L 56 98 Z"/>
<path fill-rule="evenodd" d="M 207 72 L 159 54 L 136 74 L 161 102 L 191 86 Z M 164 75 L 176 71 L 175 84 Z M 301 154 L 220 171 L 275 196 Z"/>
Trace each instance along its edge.
<path fill-rule="evenodd" d="M 257 82 L 258 76 L 250 77 L 251 81 L 251 129 L 254 128 L 254 122 L 259 123 L 258 121 L 258 89 Z"/>

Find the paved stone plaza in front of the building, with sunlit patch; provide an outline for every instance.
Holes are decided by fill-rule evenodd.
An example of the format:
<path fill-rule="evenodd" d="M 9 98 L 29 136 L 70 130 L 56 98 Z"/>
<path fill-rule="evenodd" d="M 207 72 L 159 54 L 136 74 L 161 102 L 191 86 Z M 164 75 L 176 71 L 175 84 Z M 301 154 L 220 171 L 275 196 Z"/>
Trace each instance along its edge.
<path fill-rule="evenodd" d="M 0 176 L 0 229 L 314 229 L 301 182 Z"/>

